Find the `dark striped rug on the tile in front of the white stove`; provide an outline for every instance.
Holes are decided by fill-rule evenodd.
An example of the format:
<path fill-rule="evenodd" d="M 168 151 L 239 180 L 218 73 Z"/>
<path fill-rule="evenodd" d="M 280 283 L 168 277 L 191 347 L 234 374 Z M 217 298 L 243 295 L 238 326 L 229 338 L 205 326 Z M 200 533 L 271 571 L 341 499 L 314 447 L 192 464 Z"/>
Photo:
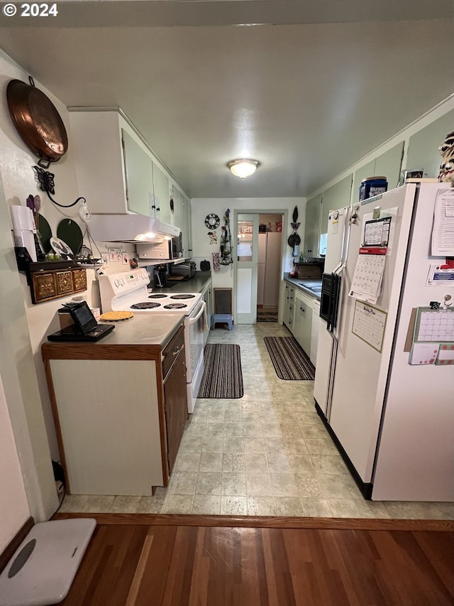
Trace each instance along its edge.
<path fill-rule="evenodd" d="M 240 346 L 209 343 L 204 349 L 204 375 L 199 398 L 242 398 Z"/>

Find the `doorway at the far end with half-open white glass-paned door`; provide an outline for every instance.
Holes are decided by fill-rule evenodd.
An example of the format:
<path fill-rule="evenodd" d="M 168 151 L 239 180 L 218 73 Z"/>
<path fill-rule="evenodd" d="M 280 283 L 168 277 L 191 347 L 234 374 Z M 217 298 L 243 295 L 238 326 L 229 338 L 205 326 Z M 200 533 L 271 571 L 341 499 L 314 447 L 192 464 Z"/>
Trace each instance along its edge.
<path fill-rule="evenodd" d="M 235 212 L 235 323 L 276 321 L 282 281 L 282 212 Z"/>

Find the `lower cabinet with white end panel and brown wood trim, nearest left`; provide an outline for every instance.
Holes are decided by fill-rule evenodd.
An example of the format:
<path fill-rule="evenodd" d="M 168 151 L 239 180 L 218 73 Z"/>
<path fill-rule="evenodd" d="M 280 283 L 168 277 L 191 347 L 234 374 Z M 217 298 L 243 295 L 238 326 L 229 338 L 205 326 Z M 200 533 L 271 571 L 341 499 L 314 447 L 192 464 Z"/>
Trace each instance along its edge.
<path fill-rule="evenodd" d="M 170 343 L 42 346 L 70 494 L 167 486 L 188 418 L 184 328 Z"/>

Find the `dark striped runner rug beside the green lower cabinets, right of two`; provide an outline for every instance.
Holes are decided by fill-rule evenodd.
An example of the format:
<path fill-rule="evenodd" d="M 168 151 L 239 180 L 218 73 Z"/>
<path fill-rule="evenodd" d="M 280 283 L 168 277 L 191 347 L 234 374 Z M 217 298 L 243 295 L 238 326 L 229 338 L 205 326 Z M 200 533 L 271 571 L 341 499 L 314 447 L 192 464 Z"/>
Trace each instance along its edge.
<path fill-rule="evenodd" d="M 279 379 L 310 381 L 315 368 L 294 337 L 264 337 L 265 345 Z"/>

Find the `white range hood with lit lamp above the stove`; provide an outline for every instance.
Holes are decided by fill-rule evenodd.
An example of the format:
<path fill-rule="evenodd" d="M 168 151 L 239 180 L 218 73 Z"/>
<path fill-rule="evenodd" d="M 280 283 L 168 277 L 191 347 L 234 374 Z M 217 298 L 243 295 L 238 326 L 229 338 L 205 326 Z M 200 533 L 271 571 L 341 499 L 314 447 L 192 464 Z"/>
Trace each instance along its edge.
<path fill-rule="evenodd" d="M 99 242 L 155 242 L 159 244 L 179 236 L 174 227 L 145 215 L 93 214 L 89 222 L 90 235 Z"/>

